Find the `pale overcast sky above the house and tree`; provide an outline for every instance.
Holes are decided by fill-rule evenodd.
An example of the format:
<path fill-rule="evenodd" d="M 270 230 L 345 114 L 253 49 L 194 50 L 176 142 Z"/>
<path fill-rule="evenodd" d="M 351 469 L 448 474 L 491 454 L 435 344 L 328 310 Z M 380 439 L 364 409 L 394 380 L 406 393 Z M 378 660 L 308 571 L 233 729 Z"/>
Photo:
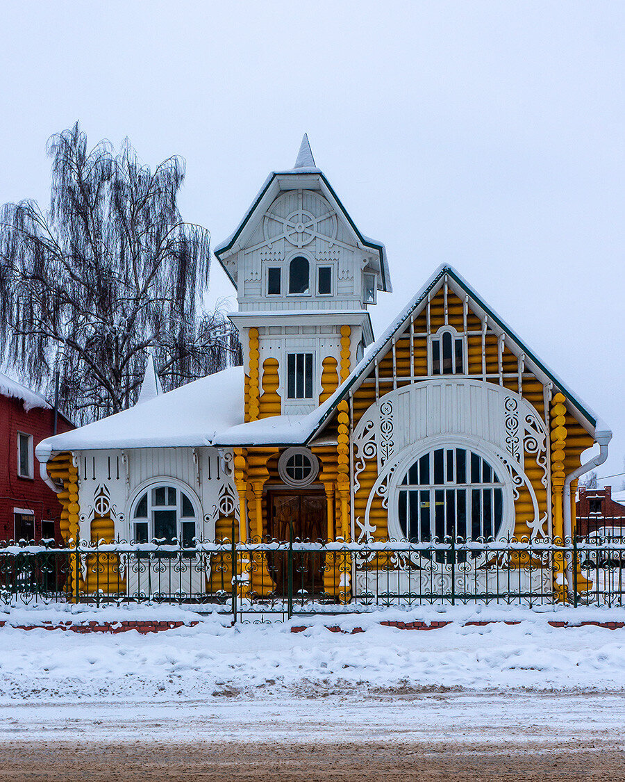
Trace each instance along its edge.
<path fill-rule="evenodd" d="M 234 229 L 302 133 L 395 293 L 455 266 L 614 431 L 623 472 L 625 3 L 0 0 L 0 203 L 48 201 L 48 136 L 187 160 Z M 218 264 L 213 296 L 229 296 Z M 620 487 L 622 477 L 608 482 Z"/>

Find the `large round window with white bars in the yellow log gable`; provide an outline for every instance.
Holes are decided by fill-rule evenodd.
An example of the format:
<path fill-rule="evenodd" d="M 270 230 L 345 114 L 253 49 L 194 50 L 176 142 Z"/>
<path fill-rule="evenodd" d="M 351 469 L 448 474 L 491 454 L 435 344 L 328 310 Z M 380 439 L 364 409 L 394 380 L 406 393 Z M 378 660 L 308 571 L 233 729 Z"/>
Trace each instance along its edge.
<path fill-rule="evenodd" d="M 398 521 L 414 543 L 498 535 L 504 484 L 479 454 L 436 448 L 420 456 L 398 486 Z"/>

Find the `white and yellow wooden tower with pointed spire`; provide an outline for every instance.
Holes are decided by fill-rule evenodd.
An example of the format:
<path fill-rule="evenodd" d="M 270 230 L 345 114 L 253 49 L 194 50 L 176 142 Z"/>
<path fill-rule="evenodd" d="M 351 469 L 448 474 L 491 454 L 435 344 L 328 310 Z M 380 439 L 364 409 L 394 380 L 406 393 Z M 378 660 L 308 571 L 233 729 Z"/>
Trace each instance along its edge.
<path fill-rule="evenodd" d="M 245 420 L 312 411 L 373 341 L 367 310 L 391 282 L 384 245 L 356 227 L 308 135 L 215 254 L 237 289 Z"/>

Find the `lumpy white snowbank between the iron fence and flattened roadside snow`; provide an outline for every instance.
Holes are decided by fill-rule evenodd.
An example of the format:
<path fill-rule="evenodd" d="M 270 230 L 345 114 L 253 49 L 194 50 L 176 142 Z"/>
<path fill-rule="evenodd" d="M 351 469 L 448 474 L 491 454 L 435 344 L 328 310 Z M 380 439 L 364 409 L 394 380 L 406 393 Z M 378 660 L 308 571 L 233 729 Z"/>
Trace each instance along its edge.
<path fill-rule="evenodd" d="M 548 618 L 410 631 L 362 617 L 367 630 L 355 634 L 331 633 L 316 620 L 302 633 L 288 623 L 230 627 L 227 617 L 147 636 L 7 626 L 0 703 L 625 691 L 625 631 L 554 628 Z"/>

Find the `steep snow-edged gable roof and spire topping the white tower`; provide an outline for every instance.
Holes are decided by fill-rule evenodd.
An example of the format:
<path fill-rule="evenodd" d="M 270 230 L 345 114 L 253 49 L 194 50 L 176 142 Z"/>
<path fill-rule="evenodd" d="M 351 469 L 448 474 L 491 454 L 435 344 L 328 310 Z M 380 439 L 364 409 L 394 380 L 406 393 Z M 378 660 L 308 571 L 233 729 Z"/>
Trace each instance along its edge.
<path fill-rule="evenodd" d="M 313 176 L 309 176 L 308 179 L 303 179 L 303 177 L 310 174 Z M 237 282 L 232 277 L 232 274 L 230 274 L 230 271 L 227 269 L 226 265 L 223 264 L 223 258 L 226 257 L 228 251 L 233 248 L 234 243 L 237 241 L 241 235 L 241 232 L 245 229 L 246 225 L 250 221 L 250 218 L 255 213 L 263 199 L 265 199 L 266 195 L 270 193 L 270 195 L 267 196 L 267 199 L 269 202 L 272 202 L 280 192 L 280 187 L 278 185 L 280 179 L 288 178 L 292 180 L 294 176 L 302 177 L 302 184 L 300 186 L 316 187 L 320 189 L 321 192 L 323 192 L 323 195 L 330 201 L 330 203 L 334 202 L 336 210 L 338 210 L 338 212 L 340 212 L 343 217 L 345 217 L 345 221 L 347 221 L 349 227 L 354 232 L 355 238 L 358 240 L 358 242 L 363 247 L 372 249 L 379 256 L 382 290 L 392 292 L 393 288 L 391 285 L 391 273 L 388 269 L 386 247 L 382 242 L 378 242 L 377 239 L 371 239 L 369 236 L 365 236 L 359 231 L 358 228 L 356 228 L 355 222 L 352 220 L 352 217 L 350 217 L 348 211 L 345 209 L 345 206 L 343 206 L 341 203 L 341 199 L 339 199 L 336 192 L 334 192 L 334 188 L 332 188 L 330 182 L 327 181 L 325 174 L 323 174 L 320 168 L 316 167 L 313 152 L 310 149 L 308 135 L 306 134 L 304 135 L 304 138 L 302 138 L 302 145 L 299 148 L 297 160 L 295 160 L 295 166 L 290 169 L 276 170 L 270 173 L 270 175 L 263 182 L 263 187 L 260 188 L 258 194 L 250 204 L 248 210 L 245 212 L 245 215 L 238 224 L 237 228 L 235 228 L 235 230 L 230 234 L 230 236 L 228 236 L 227 239 L 224 239 L 223 242 L 220 242 L 218 245 L 216 245 L 215 249 L 213 250 L 217 260 L 219 260 L 220 264 L 222 264 L 223 270 L 230 278 L 230 282 L 232 282 L 234 287 L 237 287 Z M 263 206 L 265 205 L 263 204 Z M 269 203 L 266 203 L 266 206 L 269 206 Z"/>

